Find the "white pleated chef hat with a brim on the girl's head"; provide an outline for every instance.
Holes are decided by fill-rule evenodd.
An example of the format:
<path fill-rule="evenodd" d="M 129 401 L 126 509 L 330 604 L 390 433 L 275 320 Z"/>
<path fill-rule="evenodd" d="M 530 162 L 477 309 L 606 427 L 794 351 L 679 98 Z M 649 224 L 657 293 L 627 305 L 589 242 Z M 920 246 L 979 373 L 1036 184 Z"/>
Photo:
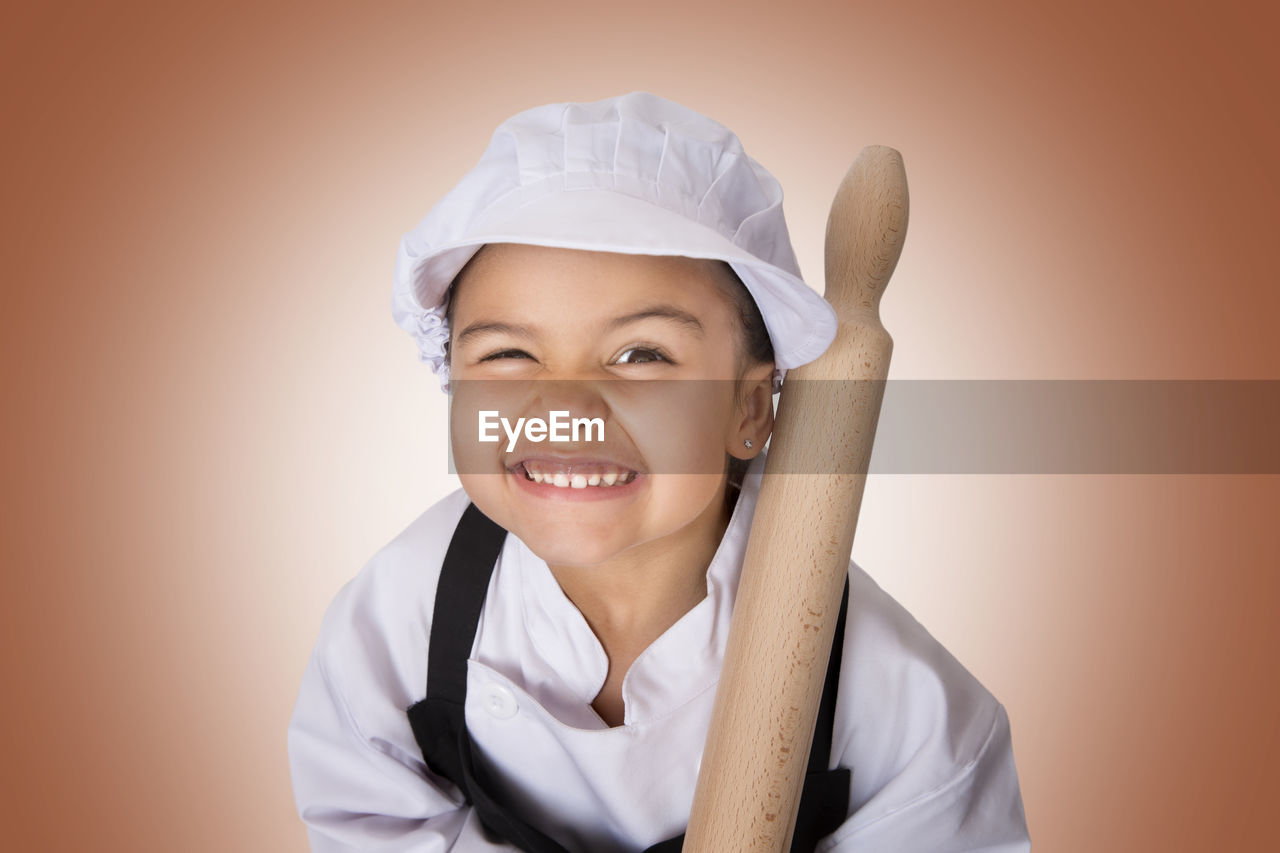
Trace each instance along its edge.
<path fill-rule="evenodd" d="M 800 278 L 778 181 L 732 131 L 648 92 L 513 115 L 401 240 L 392 314 L 445 391 L 449 284 L 498 242 L 727 261 L 764 318 L 776 378 L 836 336 Z"/>

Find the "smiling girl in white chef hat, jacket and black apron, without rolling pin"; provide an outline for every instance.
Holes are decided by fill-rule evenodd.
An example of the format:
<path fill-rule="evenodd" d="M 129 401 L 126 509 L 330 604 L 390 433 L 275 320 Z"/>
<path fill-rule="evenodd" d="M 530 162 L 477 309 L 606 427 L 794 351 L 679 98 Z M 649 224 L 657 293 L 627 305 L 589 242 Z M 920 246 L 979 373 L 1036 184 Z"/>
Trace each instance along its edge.
<path fill-rule="evenodd" d="M 315 853 L 680 849 L 772 396 L 836 328 L 781 201 L 634 92 L 503 123 L 404 237 L 462 489 L 325 615 L 289 727 Z M 1002 706 L 852 562 L 792 849 L 1029 849 Z"/>

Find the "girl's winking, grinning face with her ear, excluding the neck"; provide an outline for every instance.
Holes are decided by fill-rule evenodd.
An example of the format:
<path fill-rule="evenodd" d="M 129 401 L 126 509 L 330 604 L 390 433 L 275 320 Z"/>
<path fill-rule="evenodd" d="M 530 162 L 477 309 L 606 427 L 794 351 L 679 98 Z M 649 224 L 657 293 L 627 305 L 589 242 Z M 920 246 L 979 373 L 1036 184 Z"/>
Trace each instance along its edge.
<path fill-rule="evenodd" d="M 717 261 L 485 247 L 451 323 L 453 452 L 476 506 L 563 566 L 712 530 L 726 452 L 754 456 L 744 438 L 762 447 L 773 416 L 773 365 L 744 374 L 730 286 Z M 511 441 L 498 426 L 481 443 L 481 410 L 511 425 L 553 410 L 599 418 L 604 439 Z"/>

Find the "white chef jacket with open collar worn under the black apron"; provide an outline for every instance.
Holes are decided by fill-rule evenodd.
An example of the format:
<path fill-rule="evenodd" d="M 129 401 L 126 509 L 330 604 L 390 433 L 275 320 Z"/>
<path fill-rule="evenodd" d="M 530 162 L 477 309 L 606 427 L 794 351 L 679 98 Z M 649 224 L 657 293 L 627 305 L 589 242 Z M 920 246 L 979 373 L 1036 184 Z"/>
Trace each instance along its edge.
<path fill-rule="evenodd" d="M 547 564 L 508 534 L 467 662 L 466 724 L 502 798 L 570 850 L 643 850 L 685 830 L 764 457 L 707 570 L 707 598 L 622 684 L 625 725 L 591 708 L 608 658 Z M 312 853 L 511 850 L 422 760 L 406 710 L 426 689 L 435 584 L 458 489 L 334 598 L 288 745 Z M 1029 850 L 1005 708 L 856 564 L 829 767 L 849 818 L 818 852 Z"/>

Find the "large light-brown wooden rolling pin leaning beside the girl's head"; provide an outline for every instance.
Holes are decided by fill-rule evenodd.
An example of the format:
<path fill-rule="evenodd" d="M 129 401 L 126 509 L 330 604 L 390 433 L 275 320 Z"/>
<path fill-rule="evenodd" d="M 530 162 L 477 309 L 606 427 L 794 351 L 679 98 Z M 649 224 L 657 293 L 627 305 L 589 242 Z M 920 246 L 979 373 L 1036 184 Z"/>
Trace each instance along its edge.
<path fill-rule="evenodd" d="M 893 350 L 879 301 L 906 222 L 901 155 L 863 149 L 827 220 L 840 328 L 778 401 L 685 850 L 791 844 Z"/>

